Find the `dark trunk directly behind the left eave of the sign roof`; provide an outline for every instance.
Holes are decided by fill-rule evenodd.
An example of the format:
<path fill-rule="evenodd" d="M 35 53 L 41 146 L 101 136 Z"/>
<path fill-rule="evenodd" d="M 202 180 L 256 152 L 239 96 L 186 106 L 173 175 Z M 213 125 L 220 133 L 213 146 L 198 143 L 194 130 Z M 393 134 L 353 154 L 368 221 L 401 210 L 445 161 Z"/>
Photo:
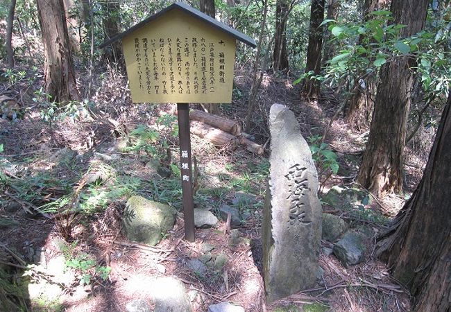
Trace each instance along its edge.
<path fill-rule="evenodd" d="M 110 40 L 119 33 L 119 24 L 121 22 L 119 12 L 119 1 L 102 2 L 103 11 L 103 34 L 104 40 Z M 112 63 L 122 64 L 124 62 L 121 41 L 113 42 L 105 50 L 105 58 Z"/>

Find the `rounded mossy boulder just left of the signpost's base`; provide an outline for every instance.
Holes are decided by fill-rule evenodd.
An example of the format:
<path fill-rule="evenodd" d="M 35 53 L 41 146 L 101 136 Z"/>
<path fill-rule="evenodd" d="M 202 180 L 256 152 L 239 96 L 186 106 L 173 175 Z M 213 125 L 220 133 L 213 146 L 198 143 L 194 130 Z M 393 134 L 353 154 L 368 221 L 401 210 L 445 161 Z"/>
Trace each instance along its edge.
<path fill-rule="evenodd" d="M 142 196 L 128 199 L 124 230 L 130 241 L 156 245 L 176 222 L 176 209 Z"/>

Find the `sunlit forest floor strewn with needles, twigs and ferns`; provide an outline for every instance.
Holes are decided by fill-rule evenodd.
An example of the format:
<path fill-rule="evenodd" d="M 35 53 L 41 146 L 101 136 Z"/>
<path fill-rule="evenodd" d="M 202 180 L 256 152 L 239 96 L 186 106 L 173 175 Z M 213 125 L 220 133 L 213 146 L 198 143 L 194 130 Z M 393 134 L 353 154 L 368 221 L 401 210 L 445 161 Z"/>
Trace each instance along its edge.
<path fill-rule="evenodd" d="M 406 196 L 377 200 L 354 182 L 367 130 L 350 128 L 341 117 L 332 123 L 326 143 L 336 151 L 340 170 L 323 184 L 320 198 L 339 185 L 368 200 L 359 195 L 334 205 L 325 203 L 323 211 L 341 216 L 351 228 L 366 233 L 365 261 L 345 268 L 334 255 L 321 253 L 323 275 L 315 288 L 266 304 L 259 241 L 269 173 L 267 152 L 260 157 L 241 148 L 219 149 L 192 135 L 199 172 L 196 207 L 217 211 L 235 201 L 246 219 L 238 228 L 239 241 L 231 238 L 220 220 L 215 227 L 196 229 L 196 241 L 189 243 L 183 239 L 180 179 L 176 174 L 156 179 L 151 157 L 136 143 L 143 139 L 142 132 L 133 132 L 139 125 L 158 132 L 152 155 L 165 155 L 166 150 L 158 147 L 164 144 L 170 148 L 171 163 L 178 165 L 178 139 L 171 133 L 174 121 L 169 117 L 173 105 L 132 105 L 125 77 L 110 71 L 92 80 L 80 78 L 83 96 L 95 105 L 74 105 L 60 114 L 58 107 L 54 112 L 44 109 L 35 94 L 42 76 L 31 69 L 24 71 L 24 78 L 0 83 L 0 94 L 15 96 L 20 105 L 15 121 L 0 119 L 4 148 L 0 153 L 0 263 L 8 268 L 9 277 L 15 276 L 15 291 L 23 291 L 28 298 L 22 306 L 31 311 L 125 311 L 126 303 L 135 299 L 152 306 L 154 277 L 173 276 L 185 284 L 193 311 L 207 311 L 210 304 L 223 301 L 255 312 L 409 311 L 407 291 L 375 258 L 375 237 L 420 180 L 429 151 L 425 142 L 430 144 L 432 134 L 421 134 L 416 141 L 420 147 L 407 147 Z M 34 79 L 33 84 L 27 77 Z M 235 83 L 235 102 L 221 105 L 221 115 L 244 121 L 250 76 L 241 71 Z M 88 85 L 91 94 L 83 91 Z M 319 102 L 301 101 L 298 94 L 291 79 L 265 76 L 250 131 L 255 141 L 268 147 L 268 112 L 273 103 L 295 112 L 307 141 L 323 134 L 339 106 L 337 100 L 330 95 Z M 134 135 L 135 141 L 130 140 Z M 253 200 L 240 202 L 240 193 Z M 168 203 L 179 211 L 175 227 L 153 248 L 127 241 L 121 232 L 121 215 L 132 194 Z M 71 205 L 81 210 L 58 212 Z M 326 241 L 322 244 L 330 247 Z M 210 268 L 199 275 L 189 270 L 187 261 L 205 254 L 206 245 L 212 245 L 212 254 L 225 254 L 228 260 L 221 270 Z M 24 272 L 26 277 L 20 277 Z M 16 302 L 19 297 L 10 296 Z"/>

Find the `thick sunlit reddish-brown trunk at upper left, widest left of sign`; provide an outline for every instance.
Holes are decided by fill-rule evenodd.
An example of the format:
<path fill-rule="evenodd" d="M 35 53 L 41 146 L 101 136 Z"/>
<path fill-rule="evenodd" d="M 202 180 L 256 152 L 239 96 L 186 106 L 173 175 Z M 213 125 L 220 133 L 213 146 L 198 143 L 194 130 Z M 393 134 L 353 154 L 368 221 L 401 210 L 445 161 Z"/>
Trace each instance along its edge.
<path fill-rule="evenodd" d="M 37 0 L 44 43 L 44 80 L 50 101 L 78 100 L 62 0 Z"/>

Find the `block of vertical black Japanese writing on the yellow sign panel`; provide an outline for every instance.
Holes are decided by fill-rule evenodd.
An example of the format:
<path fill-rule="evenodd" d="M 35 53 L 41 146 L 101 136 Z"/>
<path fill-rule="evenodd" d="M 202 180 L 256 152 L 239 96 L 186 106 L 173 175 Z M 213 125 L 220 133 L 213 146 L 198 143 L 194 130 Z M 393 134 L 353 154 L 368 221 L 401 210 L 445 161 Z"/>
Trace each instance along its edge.
<path fill-rule="evenodd" d="M 227 81 L 223 40 L 135 37 L 139 89 L 147 94 L 214 94 Z M 219 78 L 219 79 L 218 79 Z"/>

